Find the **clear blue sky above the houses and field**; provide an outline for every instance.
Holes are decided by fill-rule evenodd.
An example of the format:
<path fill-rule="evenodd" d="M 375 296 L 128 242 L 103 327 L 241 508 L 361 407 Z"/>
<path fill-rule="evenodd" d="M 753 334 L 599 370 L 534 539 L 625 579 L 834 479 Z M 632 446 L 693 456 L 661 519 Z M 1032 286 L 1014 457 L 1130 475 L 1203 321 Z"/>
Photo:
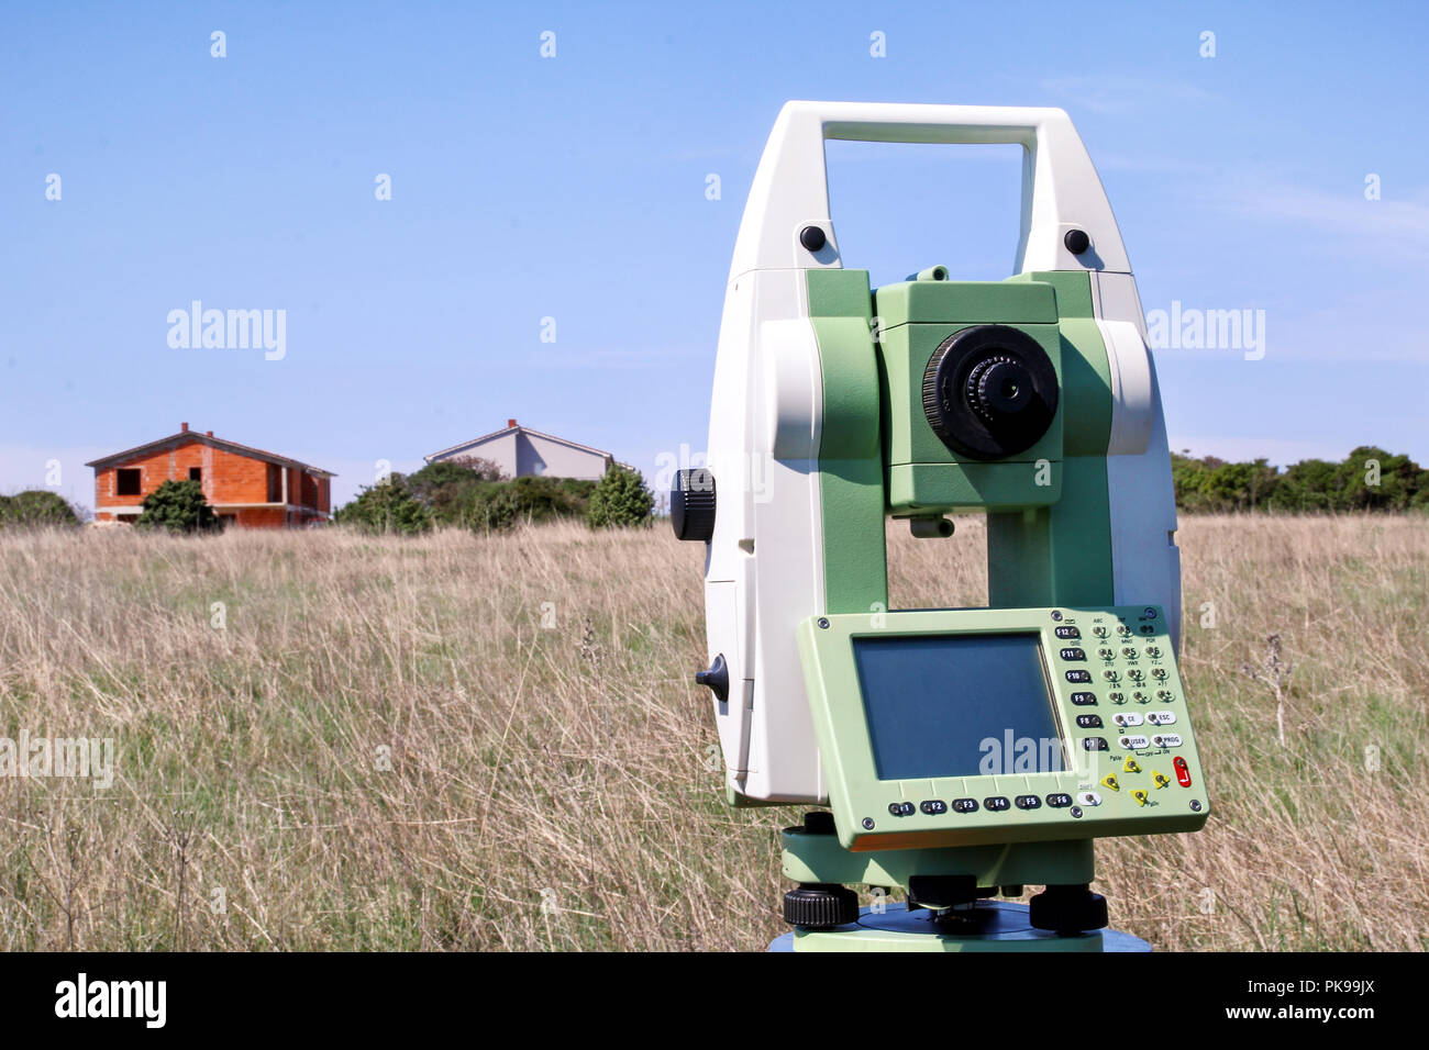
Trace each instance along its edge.
<path fill-rule="evenodd" d="M 84 460 L 180 421 L 339 499 L 507 417 L 653 476 L 703 447 L 787 99 L 1065 107 L 1143 307 L 1265 311 L 1262 360 L 1157 354 L 1173 447 L 1429 463 L 1426 10 L 6 4 L 0 491 L 59 460 L 91 504 Z M 1016 156 L 950 150 L 830 146 L 846 264 L 1010 273 Z M 170 347 L 193 300 L 286 310 L 286 354 Z"/>

